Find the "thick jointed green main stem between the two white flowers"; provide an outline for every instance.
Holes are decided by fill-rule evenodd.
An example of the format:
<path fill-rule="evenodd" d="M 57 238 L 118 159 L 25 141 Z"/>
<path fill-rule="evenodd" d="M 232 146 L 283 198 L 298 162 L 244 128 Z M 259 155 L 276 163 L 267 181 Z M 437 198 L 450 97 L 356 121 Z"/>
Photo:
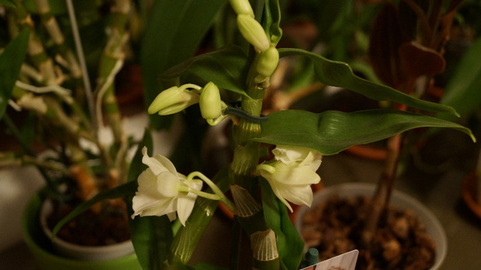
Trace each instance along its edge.
<path fill-rule="evenodd" d="M 269 79 L 261 85 L 254 83 L 254 78 L 257 75 L 256 64 L 258 63 L 258 57 L 259 54 L 254 56 L 247 77 L 246 92 L 248 96 L 243 97 L 241 100 L 241 109 L 253 116 L 260 116 L 262 100 L 265 91 L 269 87 Z M 257 193 L 258 185 L 254 175 L 259 160 L 260 144 L 252 142 L 250 139 L 260 133 L 260 125 L 241 118 L 238 122 L 234 122 L 232 130 L 236 146 L 229 174 L 231 189 L 238 185 L 240 188 L 248 191 L 247 194 L 242 192 L 243 196 L 236 196 L 233 193 L 234 203 L 246 207 L 243 212 L 236 213 L 236 218 L 250 236 L 254 268 L 260 270 L 278 269 L 280 262 L 276 247 L 276 237 L 265 223 L 262 207 L 257 203 L 244 203 L 245 201 L 257 201 L 254 198 L 256 198 L 255 194 Z M 250 197 L 246 198 L 245 196 Z M 266 247 L 269 250 L 265 250 Z"/>

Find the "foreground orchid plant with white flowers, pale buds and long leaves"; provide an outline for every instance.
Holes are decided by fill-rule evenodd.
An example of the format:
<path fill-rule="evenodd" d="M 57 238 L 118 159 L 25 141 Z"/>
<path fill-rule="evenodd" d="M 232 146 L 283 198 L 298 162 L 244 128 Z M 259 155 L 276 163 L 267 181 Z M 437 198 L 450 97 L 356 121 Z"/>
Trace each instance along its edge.
<path fill-rule="evenodd" d="M 170 5 L 167 2 L 155 1 L 152 12 L 164 16 L 155 16 L 152 25 L 157 27 L 151 25 L 146 32 L 175 33 L 178 39 L 145 40 L 145 46 L 155 47 L 156 54 L 146 56 L 144 67 L 157 65 L 157 69 L 149 69 L 144 76 L 148 113 L 163 116 L 151 118 L 154 126 L 168 119 L 167 115 L 185 111 L 186 117 L 212 126 L 230 121 L 232 159 L 213 177 L 198 170 L 181 173 L 168 157 L 152 154 L 152 138 L 146 131 L 131 164 L 128 182 L 98 194 L 67 217 L 103 199 L 126 196 L 132 241 L 144 269 L 223 269 L 189 265 L 219 201 L 234 213 L 233 222 L 250 240 L 252 260 L 240 262 L 234 252 L 233 269 L 245 264 L 253 269 L 298 269 L 304 243 L 288 213 L 291 203 L 311 205 L 311 185 L 320 182 L 316 171 L 323 155 L 335 155 L 356 144 L 423 126 L 454 128 L 474 140 L 468 128 L 410 111 L 284 110 L 264 115 L 265 92 L 280 59 L 289 56 L 309 60 L 315 78 L 324 85 L 344 87 L 374 100 L 399 102 L 421 111 L 454 115 L 456 111 L 355 76 L 346 63 L 303 49 L 278 47 L 282 38 L 281 1 L 230 0 L 227 6 L 227 1 L 221 0 Z M 192 10 L 203 11 L 192 18 L 188 13 Z M 219 10 L 234 15 L 231 20 L 240 36 L 234 38 L 238 43 L 192 58 L 174 56 L 174 52 L 179 52 L 175 46 L 178 43 L 190 46 L 190 42 L 200 42 L 191 20 L 196 21 L 196 29 L 201 29 L 210 25 Z M 163 48 L 171 51 L 161 51 Z M 154 65 L 159 55 L 167 57 L 164 62 L 168 63 Z M 161 82 L 151 80 L 150 73 L 156 74 L 157 79 L 160 76 Z M 165 90 L 159 91 L 159 87 Z M 192 109 L 197 111 L 192 113 Z M 227 191 L 232 198 L 225 195 Z M 65 220 L 58 223 L 54 233 L 64 223 Z"/>

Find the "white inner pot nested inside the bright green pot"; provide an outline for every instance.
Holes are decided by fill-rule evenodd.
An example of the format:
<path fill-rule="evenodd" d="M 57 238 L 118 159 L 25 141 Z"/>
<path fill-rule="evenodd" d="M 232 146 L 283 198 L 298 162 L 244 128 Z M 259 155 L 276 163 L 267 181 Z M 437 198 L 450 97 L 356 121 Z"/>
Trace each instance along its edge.
<path fill-rule="evenodd" d="M 52 238 L 52 231 L 47 226 L 47 216 L 52 212 L 52 202 L 45 200 L 41 207 L 40 223 L 43 232 L 48 238 Z M 121 258 L 129 254 L 134 253 L 131 240 L 127 240 L 121 243 L 104 246 L 84 246 L 69 243 L 58 237 L 52 240 L 56 253 L 66 258 L 72 258 L 76 260 L 111 260 L 115 258 Z"/>

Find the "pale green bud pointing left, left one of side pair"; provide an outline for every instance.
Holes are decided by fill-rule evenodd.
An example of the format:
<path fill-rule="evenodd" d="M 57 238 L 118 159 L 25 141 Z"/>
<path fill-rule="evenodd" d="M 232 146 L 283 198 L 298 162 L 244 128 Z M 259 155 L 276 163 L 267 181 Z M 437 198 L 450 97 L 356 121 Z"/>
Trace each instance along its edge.
<path fill-rule="evenodd" d="M 148 106 L 148 113 L 170 115 L 183 111 L 188 106 L 199 102 L 199 94 L 179 87 L 170 87 L 161 91 L 155 100 Z"/>

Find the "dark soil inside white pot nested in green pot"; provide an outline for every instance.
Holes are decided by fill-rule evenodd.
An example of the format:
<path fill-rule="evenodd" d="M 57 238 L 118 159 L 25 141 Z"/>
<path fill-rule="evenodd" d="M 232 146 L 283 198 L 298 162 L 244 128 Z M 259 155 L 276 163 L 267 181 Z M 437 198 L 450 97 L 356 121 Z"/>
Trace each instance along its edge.
<path fill-rule="evenodd" d="M 54 202 L 54 211 L 47 218 L 50 229 L 74 209 L 73 205 L 76 204 Z M 85 246 L 111 245 L 128 240 L 131 236 L 125 202 L 118 199 L 94 205 L 65 224 L 57 236 L 69 243 Z"/>

